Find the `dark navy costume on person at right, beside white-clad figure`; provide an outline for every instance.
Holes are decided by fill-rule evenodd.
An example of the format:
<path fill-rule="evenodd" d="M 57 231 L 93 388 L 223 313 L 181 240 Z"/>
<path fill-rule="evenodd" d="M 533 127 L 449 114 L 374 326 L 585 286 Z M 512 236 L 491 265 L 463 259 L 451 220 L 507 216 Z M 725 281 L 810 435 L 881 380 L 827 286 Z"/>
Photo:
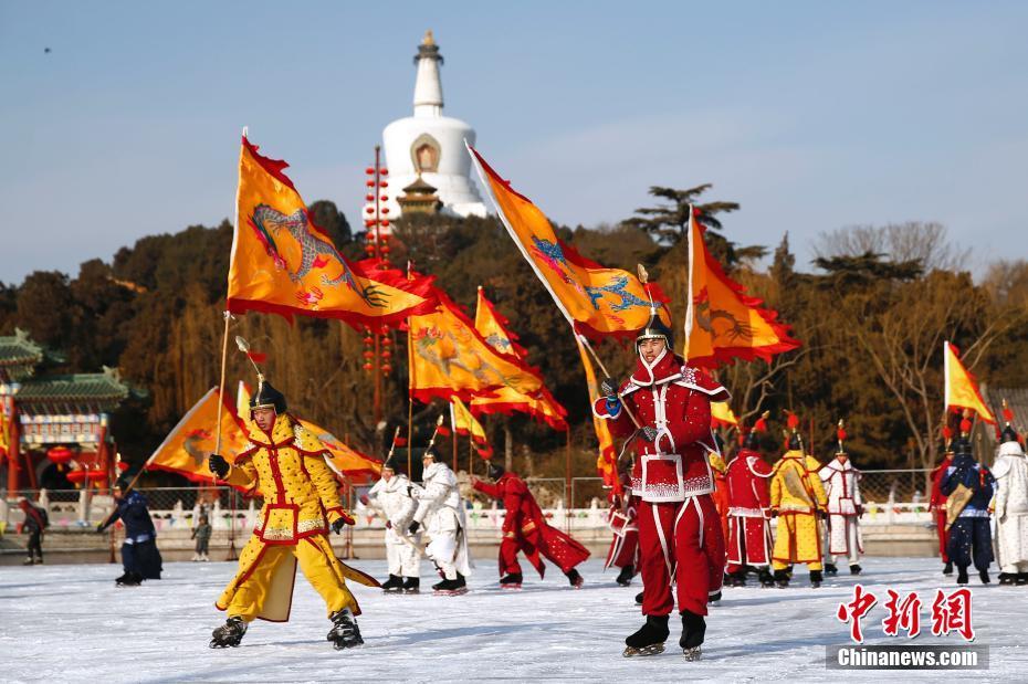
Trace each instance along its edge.
<path fill-rule="evenodd" d="M 993 535 L 989 530 L 988 505 L 993 499 L 993 486 L 996 480 L 985 465 L 975 461 L 971 444 L 966 440 L 958 440 L 954 444 L 954 451 L 956 455 L 943 475 L 940 490 L 946 496 L 951 496 L 957 485 L 963 484 L 974 492 L 974 496 L 950 528 L 946 551 L 959 570 L 964 582 L 967 581 L 967 567 L 972 565 L 972 561 L 982 575 L 982 581 L 987 582 L 988 567 L 993 562 Z"/>

